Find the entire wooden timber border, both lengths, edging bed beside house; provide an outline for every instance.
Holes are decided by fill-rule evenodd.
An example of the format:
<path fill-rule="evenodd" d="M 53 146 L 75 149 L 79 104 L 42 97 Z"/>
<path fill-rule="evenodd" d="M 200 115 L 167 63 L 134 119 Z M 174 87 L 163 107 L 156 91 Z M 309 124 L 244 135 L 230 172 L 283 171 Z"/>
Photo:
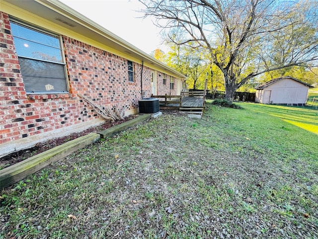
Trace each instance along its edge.
<path fill-rule="evenodd" d="M 4 168 L 0 170 L 0 190 L 39 171 L 52 162 L 62 159 L 89 144 L 97 142 L 100 138 L 111 137 L 117 132 L 133 127 L 147 119 L 150 119 L 150 114 L 138 116 L 135 119 L 115 125 L 98 133 L 89 133 Z"/>

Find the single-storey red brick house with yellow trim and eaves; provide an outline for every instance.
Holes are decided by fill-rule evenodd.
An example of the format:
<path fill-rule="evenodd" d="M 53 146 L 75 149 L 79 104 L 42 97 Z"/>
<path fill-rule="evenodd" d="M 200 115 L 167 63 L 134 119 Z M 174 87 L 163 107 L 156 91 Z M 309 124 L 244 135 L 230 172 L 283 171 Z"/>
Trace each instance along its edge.
<path fill-rule="evenodd" d="M 56 0 L 1 0 L 0 157 L 103 122 L 96 104 L 138 113 L 185 76 Z"/>

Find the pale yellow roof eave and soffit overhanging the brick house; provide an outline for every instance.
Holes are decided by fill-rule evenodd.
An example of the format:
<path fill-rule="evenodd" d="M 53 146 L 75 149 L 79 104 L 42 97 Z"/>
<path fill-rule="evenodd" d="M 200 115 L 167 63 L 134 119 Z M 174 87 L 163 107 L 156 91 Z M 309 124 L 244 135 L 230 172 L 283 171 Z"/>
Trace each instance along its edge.
<path fill-rule="evenodd" d="M 5 2 L 109 46 L 113 49 L 113 52 L 110 53 L 120 55 L 120 52 L 122 52 L 132 58 L 139 59 L 141 62 L 143 61 L 150 68 L 160 69 L 164 73 L 177 78 L 186 78 L 175 69 L 168 67 L 58 0 L 1 0 L 2 11 L 12 10 L 14 12 L 13 8 L 10 8 L 10 5 L 6 5 Z M 10 14 L 10 12 L 6 13 Z"/>

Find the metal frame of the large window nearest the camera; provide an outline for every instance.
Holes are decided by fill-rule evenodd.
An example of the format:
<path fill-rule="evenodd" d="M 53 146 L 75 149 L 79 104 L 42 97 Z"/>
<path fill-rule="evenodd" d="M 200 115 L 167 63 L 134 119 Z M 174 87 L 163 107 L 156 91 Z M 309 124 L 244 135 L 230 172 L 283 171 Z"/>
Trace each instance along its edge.
<path fill-rule="evenodd" d="M 69 94 L 70 93 L 70 85 L 69 85 L 69 79 L 68 79 L 68 74 L 67 74 L 67 69 L 66 69 L 66 60 L 65 60 L 65 54 L 64 54 L 64 45 L 63 45 L 63 38 L 60 34 L 57 34 L 57 33 L 54 33 L 52 31 L 49 31 L 49 30 L 46 30 L 42 27 L 39 27 L 39 26 L 36 26 L 32 23 L 28 23 L 28 22 L 25 22 L 23 20 L 20 20 L 20 19 L 17 19 L 15 17 L 12 17 L 12 16 L 9 16 L 9 22 L 10 24 L 11 23 L 14 23 L 16 25 L 19 25 L 20 27 L 24 27 L 24 28 L 28 28 L 32 31 L 37 31 L 41 34 L 45 34 L 45 35 L 48 35 L 50 37 L 53 37 L 53 38 L 56 38 L 58 39 L 59 41 L 59 52 L 61 54 L 61 61 L 53 61 L 53 60 L 49 60 L 49 59 L 40 59 L 40 58 L 35 58 L 35 57 L 29 57 L 29 56 L 23 56 L 23 55 L 20 55 L 17 51 L 16 51 L 16 55 L 18 57 L 18 60 L 19 58 L 24 58 L 24 59 L 27 59 L 27 60 L 34 60 L 36 62 L 44 62 L 44 63 L 48 63 L 48 64 L 58 64 L 60 66 L 62 66 L 63 68 L 63 72 L 62 70 L 59 71 L 60 74 L 63 74 L 64 75 L 64 80 L 65 80 L 65 90 L 47 90 L 47 91 L 40 91 L 40 90 L 36 90 L 36 89 L 33 89 L 33 90 L 26 90 L 25 89 L 25 92 L 27 95 L 48 95 L 48 94 Z M 13 38 L 13 43 L 14 43 L 14 47 L 15 47 L 15 42 L 17 38 L 19 39 L 22 39 L 21 36 L 14 36 L 12 30 L 11 30 L 11 35 L 12 35 L 12 38 Z M 15 38 L 15 39 L 14 39 Z M 33 41 L 31 38 L 24 38 L 24 40 L 27 40 L 27 41 Z M 38 43 L 38 44 L 45 44 L 41 41 L 39 42 L 35 42 L 35 43 Z M 54 46 L 52 46 L 53 48 L 55 48 Z M 16 47 L 15 47 L 16 48 Z M 45 51 L 44 51 L 45 53 Z M 21 64 L 20 64 L 20 60 L 19 60 L 19 65 L 20 65 L 20 69 L 21 69 Z M 26 77 L 23 77 L 23 73 L 22 71 L 20 70 L 20 73 L 22 74 L 22 80 L 23 80 L 23 83 L 24 83 L 24 87 L 25 85 L 27 85 L 29 82 L 28 81 L 24 81 L 24 78 Z M 38 76 L 36 79 L 41 79 L 43 78 Z M 59 81 L 55 82 L 55 83 L 59 83 Z M 62 83 L 62 81 L 61 81 Z M 32 86 L 33 87 L 33 86 Z M 64 87 L 63 87 L 64 88 Z"/>

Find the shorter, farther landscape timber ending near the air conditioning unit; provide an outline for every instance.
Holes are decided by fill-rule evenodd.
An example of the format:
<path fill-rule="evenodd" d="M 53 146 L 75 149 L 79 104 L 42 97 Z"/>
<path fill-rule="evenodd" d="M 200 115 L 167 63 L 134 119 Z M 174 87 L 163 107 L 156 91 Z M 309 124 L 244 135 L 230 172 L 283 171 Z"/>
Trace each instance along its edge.
<path fill-rule="evenodd" d="M 111 128 L 107 128 L 107 129 L 105 129 L 103 131 L 100 131 L 98 133 L 100 134 L 101 138 L 111 137 L 114 134 L 116 134 L 116 133 L 118 133 L 120 131 L 126 130 L 126 129 L 130 128 L 130 127 L 133 127 L 136 124 L 138 124 L 138 123 L 140 123 L 142 121 L 145 121 L 147 119 L 150 119 L 150 114 L 145 114 L 145 115 L 138 116 L 135 119 L 131 119 L 131 120 L 126 121 L 124 123 L 115 125 L 115 126 L 113 126 Z"/>

